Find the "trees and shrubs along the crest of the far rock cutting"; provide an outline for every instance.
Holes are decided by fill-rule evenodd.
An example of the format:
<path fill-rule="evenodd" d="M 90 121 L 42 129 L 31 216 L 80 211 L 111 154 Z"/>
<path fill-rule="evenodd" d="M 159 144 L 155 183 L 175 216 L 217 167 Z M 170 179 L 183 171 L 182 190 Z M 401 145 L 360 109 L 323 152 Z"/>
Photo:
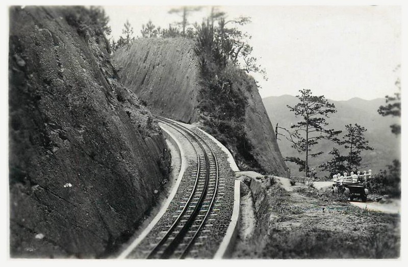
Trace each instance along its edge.
<path fill-rule="evenodd" d="M 172 8 L 169 14 L 177 14 L 182 20 L 170 23 L 168 28 L 156 26 L 151 20 L 142 25 L 142 38 L 175 38 L 184 37 L 197 39 L 199 46 L 197 49 L 206 47 L 207 54 L 213 54 L 213 63 L 225 67 L 227 62 L 243 70 L 247 74 L 259 72 L 263 79 L 267 80 L 266 70 L 258 63 L 257 58 L 252 56 L 253 47 L 248 40 L 251 39 L 246 32 L 242 32 L 236 26 L 243 26 L 251 22 L 250 17 L 240 16 L 227 19 L 225 12 L 219 11 L 217 7 L 212 7 L 208 17 L 203 18 L 201 25 L 197 22 L 190 23 L 188 16 L 192 12 L 200 11 L 202 7 L 184 6 Z M 126 21 L 122 30 L 122 36 L 117 41 L 111 40 L 113 51 L 129 45 L 133 37 L 133 27 Z M 202 51 L 201 51 L 202 52 Z M 201 62 L 202 64 L 209 63 Z"/>

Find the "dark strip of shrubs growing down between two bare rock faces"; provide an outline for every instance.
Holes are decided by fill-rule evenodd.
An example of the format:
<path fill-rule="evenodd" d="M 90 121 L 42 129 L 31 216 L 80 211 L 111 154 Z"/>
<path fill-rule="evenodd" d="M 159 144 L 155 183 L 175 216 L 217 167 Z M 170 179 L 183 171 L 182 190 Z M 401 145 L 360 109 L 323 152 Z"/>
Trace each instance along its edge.
<path fill-rule="evenodd" d="M 245 163 L 242 166 L 262 172 L 243 129 L 247 106 L 243 90 L 252 90 L 254 83 L 219 50 L 209 22 L 202 23 L 197 31 L 195 52 L 200 59 L 202 77 L 198 108 L 203 124 L 234 152 L 238 162 Z"/>

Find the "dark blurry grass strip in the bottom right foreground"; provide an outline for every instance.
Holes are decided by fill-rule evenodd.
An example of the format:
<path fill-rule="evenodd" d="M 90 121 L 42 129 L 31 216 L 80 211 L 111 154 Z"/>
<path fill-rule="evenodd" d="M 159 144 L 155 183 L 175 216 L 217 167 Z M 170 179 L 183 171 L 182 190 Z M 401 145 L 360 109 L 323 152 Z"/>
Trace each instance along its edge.
<path fill-rule="evenodd" d="M 262 257 L 267 258 L 397 258 L 399 238 L 387 234 L 387 225 L 371 225 L 365 234 L 358 230 L 321 229 L 316 225 L 274 227 Z M 352 230 L 352 229 L 351 229 Z"/>

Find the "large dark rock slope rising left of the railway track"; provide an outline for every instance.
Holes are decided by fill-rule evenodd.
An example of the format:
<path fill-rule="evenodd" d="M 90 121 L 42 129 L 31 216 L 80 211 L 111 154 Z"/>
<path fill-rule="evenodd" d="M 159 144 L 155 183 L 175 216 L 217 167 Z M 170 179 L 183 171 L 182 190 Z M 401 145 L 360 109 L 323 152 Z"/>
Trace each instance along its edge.
<path fill-rule="evenodd" d="M 12 257 L 104 257 L 166 173 L 149 111 L 116 80 L 84 8 L 10 8 Z"/>

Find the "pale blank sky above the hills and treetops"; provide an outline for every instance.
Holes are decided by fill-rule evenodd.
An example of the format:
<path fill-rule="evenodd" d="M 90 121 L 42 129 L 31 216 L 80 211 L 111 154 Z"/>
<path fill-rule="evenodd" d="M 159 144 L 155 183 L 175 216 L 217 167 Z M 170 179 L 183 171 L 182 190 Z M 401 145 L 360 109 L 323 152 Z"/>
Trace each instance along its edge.
<path fill-rule="evenodd" d="M 181 18 L 168 6 L 107 6 L 112 35 L 129 19 L 135 35 L 149 19 L 168 27 Z M 333 100 L 384 98 L 397 88 L 401 63 L 401 10 L 387 6 L 222 6 L 228 18 L 250 16 L 242 30 L 252 36 L 253 55 L 266 68 L 262 97 L 308 88 Z M 201 21 L 210 12 L 189 17 Z"/>

